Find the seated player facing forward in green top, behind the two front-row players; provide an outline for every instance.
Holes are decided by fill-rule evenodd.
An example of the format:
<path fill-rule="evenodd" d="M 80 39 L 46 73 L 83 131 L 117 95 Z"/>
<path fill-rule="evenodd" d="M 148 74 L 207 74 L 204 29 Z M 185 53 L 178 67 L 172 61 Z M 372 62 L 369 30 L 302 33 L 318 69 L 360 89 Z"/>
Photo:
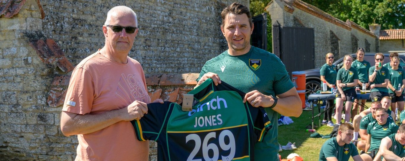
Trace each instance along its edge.
<path fill-rule="evenodd" d="M 381 140 L 394 134 L 398 130 L 398 126 L 392 120 L 388 120 L 387 110 L 378 108 L 375 110 L 375 121 L 367 126 L 367 144 L 365 153 L 360 157 L 364 161 L 373 161 L 378 152 Z"/>

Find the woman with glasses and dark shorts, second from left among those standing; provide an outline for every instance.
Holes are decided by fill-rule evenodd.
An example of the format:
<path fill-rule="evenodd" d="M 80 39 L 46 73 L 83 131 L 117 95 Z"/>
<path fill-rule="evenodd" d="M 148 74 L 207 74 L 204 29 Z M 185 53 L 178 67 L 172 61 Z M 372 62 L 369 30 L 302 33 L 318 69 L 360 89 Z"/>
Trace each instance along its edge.
<path fill-rule="evenodd" d="M 336 85 L 339 92 L 336 93 L 336 122 L 342 120 L 343 102 L 345 105 L 345 122 L 350 122 L 351 110 L 356 91 L 354 87 L 358 83 L 357 70 L 352 67 L 353 58 L 350 55 L 345 55 L 343 58 L 343 68 L 337 72 Z"/>

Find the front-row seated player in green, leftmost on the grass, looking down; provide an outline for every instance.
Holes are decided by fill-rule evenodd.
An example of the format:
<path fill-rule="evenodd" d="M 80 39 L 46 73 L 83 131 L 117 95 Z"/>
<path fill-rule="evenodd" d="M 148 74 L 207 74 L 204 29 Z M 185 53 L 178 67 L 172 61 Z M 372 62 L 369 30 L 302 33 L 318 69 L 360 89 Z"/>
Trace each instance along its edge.
<path fill-rule="evenodd" d="M 342 123 L 336 137 L 327 140 L 319 153 L 319 161 L 348 161 L 352 156 L 354 161 L 363 161 L 356 146 L 352 143 L 353 126 Z"/>

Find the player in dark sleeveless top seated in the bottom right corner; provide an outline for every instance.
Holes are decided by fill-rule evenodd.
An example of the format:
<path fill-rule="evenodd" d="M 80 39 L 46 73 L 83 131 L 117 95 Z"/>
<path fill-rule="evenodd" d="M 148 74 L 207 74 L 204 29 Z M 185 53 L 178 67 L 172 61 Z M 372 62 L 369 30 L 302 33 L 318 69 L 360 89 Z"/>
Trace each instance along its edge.
<path fill-rule="evenodd" d="M 405 125 L 399 126 L 395 134 L 390 134 L 381 140 L 379 151 L 374 161 L 384 157 L 386 161 L 404 161 L 405 160 Z"/>

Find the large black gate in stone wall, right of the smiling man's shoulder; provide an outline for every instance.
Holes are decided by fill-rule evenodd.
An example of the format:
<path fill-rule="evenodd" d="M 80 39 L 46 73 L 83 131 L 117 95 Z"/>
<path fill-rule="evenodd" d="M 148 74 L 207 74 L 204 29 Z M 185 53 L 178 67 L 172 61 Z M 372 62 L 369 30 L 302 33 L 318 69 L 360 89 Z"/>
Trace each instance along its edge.
<path fill-rule="evenodd" d="M 315 68 L 313 28 L 283 27 L 280 35 L 279 56 L 290 76 L 293 71 Z"/>

